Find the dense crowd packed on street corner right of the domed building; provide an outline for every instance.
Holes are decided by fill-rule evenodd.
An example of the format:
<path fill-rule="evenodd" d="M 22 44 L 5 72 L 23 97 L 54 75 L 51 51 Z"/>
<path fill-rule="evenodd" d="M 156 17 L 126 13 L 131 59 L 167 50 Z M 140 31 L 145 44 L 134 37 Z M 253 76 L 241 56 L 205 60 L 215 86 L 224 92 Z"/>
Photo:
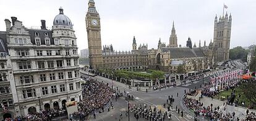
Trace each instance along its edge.
<path fill-rule="evenodd" d="M 88 115 L 94 115 L 100 111 L 104 112 L 104 108 L 114 97 L 115 91 L 103 82 L 87 77 L 83 87 L 83 99 L 78 102 L 79 111 L 70 115 L 73 119 L 85 120 Z M 71 119 L 72 120 L 72 119 Z"/>

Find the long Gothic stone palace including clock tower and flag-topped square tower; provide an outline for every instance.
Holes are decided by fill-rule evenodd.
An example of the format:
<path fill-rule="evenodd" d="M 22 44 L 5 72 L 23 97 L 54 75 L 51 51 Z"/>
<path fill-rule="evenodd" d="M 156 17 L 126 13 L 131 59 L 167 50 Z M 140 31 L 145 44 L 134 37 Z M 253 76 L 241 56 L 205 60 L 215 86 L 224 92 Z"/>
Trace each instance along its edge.
<path fill-rule="evenodd" d="M 90 68 L 98 69 L 156 69 L 164 72 L 177 72 L 182 66 L 186 72 L 209 69 L 217 62 L 229 60 L 229 45 L 231 38 L 231 15 L 216 16 L 214 21 L 213 41 L 203 46 L 192 47 L 188 38 L 186 47 L 177 44 L 177 34 L 174 27 L 169 37 L 169 45 L 158 41 L 157 49 L 148 49 L 147 44 L 137 44 L 134 36 L 131 41 L 132 51 L 114 51 L 113 46 L 101 45 L 100 15 L 95 8 L 95 2 L 88 2 L 86 15 L 88 49 Z M 157 43 L 157 41 L 156 41 Z"/>

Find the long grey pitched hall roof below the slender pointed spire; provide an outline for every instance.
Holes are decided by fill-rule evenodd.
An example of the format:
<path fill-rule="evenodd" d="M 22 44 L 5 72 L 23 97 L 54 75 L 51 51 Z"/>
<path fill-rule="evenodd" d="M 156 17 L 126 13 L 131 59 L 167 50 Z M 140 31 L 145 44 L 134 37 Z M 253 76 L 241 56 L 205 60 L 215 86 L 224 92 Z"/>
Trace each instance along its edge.
<path fill-rule="evenodd" d="M 182 58 L 191 58 L 191 57 L 206 57 L 203 54 L 203 50 L 200 48 L 161 48 L 163 52 L 170 52 L 171 58 L 173 59 L 182 59 Z"/>

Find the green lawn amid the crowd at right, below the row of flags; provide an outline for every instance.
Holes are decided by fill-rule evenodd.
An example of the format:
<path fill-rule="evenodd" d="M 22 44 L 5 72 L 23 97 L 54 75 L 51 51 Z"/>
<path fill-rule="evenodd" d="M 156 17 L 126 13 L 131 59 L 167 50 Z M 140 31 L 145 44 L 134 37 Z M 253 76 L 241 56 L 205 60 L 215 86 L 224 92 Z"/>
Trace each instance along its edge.
<path fill-rule="evenodd" d="M 222 92 L 219 94 L 219 98 L 220 98 L 221 96 L 223 96 L 223 97 L 225 98 L 225 100 L 226 100 L 228 96 L 229 96 L 229 97 L 231 96 L 231 92 L 232 92 L 232 90 L 222 91 Z M 236 94 L 235 101 L 236 101 L 236 99 L 239 99 L 239 103 L 240 103 L 241 101 L 245 101 L 245 107 L 248 107 L 248 106 L 249 106 L 250 101 L 245 97 L 245 94 L 244 94 L 244 92 L 242 92 L 241 88 L 236 87 L 236 88 L 235 88 L 235 94 Z M 238 95 L 239 95 L 239 94 L 241 95 L 241 98 L 238 98 Z M 217 99 L 218 97 L 215 96 L 214 98 Z M 242 106 L 242 104 L 239 104 L 239 106 Z M 256 109 L 256 107 L 254 107 L 254 109 Z"/>

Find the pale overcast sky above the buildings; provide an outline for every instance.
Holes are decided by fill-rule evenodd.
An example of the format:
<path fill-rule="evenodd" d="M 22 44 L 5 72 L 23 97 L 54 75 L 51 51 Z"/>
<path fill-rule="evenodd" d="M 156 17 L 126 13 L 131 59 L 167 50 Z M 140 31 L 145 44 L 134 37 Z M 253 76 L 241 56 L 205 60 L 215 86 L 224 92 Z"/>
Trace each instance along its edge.
<path fill-rule="evenodd" d="M 147 43 L 148 49 L 157 49 L 158 40 L 169 44 L 174 21 L 177 43 L 186 46 L 187 38 L 213 40 L 215 15 L 232 15 L 231 48 L 249 46 L 256 42 L 255 0 L 94 0 L 101 19 L 101 43 L 113 44 L 116 51 L 130 51 L 135 36 L 137 46 Z M 88 0 L 0 0 L 0 31 L 6 30 L 4 19 L 17 17 L 27 28 L 40 27 L 46 20 L 51 29 L 59 14 L 59 7 L 74 24 L 77 45 L 88 48 L 85 15 Z"/>

